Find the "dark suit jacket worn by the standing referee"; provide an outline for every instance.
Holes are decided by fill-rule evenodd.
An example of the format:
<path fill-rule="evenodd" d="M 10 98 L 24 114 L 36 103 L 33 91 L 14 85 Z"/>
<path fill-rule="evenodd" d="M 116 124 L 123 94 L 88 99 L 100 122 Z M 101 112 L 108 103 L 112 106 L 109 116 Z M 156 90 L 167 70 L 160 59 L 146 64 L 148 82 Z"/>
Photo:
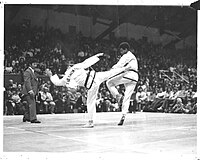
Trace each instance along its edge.
<path fill-rule="evenodd" d="M 30 68 L 27 68 L 24 72 L 22 94 L 27 95 L 30 90 L 33 90 L 35 94 L 38 93 L 38 80 L 33 71 Z"/>

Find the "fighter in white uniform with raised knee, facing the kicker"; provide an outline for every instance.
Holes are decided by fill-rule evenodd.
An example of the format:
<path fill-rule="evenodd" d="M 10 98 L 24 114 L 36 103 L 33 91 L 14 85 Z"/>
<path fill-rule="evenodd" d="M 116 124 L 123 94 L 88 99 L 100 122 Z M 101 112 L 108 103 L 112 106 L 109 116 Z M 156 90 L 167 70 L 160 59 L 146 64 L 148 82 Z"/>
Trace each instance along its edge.
<path fill-rule="evenodd" d="M 125 67 L 127 65 L 129 65 L 131 68 L 126 71 L 125 74 L 123 73 L 113 76 L 106 82 L 111 94 L 118 101 L 120 100 L 122 95 L 119 94 L 115 86 L 118 86 L 120 84 L 124 84 L 125 86 L 124 99 L 122 102 L 122 117 L 118 125 L 123 125 L 124 123 L 125 116 L 129 109 L 131 95 L 133 94 L 135 86 L 138 82 L 138 62 L 134 54 L 129 50 L 130 45 L 127 42 L 122 42 L 119 45 L 119 52 L 122 57 L 119 59 L 117 64 L 112 67 L 112 69 Z"/>

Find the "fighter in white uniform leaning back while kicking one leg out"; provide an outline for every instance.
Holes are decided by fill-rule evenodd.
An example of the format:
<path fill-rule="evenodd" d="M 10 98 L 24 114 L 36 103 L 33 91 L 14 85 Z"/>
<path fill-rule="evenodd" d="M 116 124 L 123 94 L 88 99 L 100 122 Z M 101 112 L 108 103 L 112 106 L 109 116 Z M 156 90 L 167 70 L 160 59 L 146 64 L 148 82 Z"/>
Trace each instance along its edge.
<path fill-rule="evenodd" d="M 94 114 L 96 113 L 95 102 L 97 99 L 97 93 L 99 86 L 103 81 L 115 75 L 123 75 L 130 67 L 129 65 L 121 68 L 111 69 L 105 72 L 95 72 L 93 69 L 88 69 L 93 64 L 97 63 L 103 56 L 103 53 L 96 54 L 82 63 L 75 64 L 71 68 L 67 69 L 64 77 L 59 79 L 58 75 L 52 75 L 52 72 L 48 69 L 46 74 L 50 77 L 51 82 L 56 86 L 66 86 L 69 88 L 76 88 L 77 86 L 86 87 L 87 91 L 87 112 L 89 122 L 84 127 L 94 127 Z"/>

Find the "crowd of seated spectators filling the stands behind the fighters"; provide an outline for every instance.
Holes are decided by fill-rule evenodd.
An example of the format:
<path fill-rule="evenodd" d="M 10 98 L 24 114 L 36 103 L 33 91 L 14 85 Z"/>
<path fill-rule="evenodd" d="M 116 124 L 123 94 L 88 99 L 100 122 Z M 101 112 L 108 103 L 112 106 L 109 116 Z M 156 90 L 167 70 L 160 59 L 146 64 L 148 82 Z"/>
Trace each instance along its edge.
<path fill-rule="evenodd" d="M 66 68 L 98 52 L 106 58 L 93 66 L 96 71 L 106 71 L 118 60 L 117 46 L 128 41 L 139 63 L 140 79 L 133 93 L 130 112 L 152 111 L 168 113 L 196 113 L 197 101 L 197 52 L 196 49 L 164 48 L 160 44 L 125 37 L 95 41 L 91 37 L 77 34 L 63 34 L 59 29 L 48 31 L 41 27 L 31 28 L 23 23 L 8 26 L 5 30 L 4 73 L 23 74 L 30 57 L 38 59 L 38 75 L 45 75 L 45 69 L 63 74 Z M 164 71 L 164 72 L 163 72 Z M 163 74 L 164 73 L 164 74 Z M 23 83 L 23 80 L 22 80 Z M 4 114 L 22 114 L 22 83 L 9 81 L 4 91 Z M 123 85 L 118 87 L 123 94 Z M 86 90 L 68 90 L 55 87 L 50 81 L 40 79 L 37 96 L 38 113 L 86 112 Z M 120 111 L 120 104 L 112 97 L 105 83 L 102 83 L 96 103 L 97 112 Z"/>

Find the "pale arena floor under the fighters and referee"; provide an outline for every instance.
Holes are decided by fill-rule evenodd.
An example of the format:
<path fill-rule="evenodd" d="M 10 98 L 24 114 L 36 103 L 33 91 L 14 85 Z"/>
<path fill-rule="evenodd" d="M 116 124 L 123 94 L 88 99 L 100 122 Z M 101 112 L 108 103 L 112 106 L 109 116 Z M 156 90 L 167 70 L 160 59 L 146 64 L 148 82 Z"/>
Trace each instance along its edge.
<path fill-rule="evenodd" d="M 38 115 L 41 124 L 4 116 L 3 152 L 126 153 L 196 158 L 197 115 L 137 112 L 117 126 L 119 112 L 97 113 L 94 128 L 86 114 Z"/>

